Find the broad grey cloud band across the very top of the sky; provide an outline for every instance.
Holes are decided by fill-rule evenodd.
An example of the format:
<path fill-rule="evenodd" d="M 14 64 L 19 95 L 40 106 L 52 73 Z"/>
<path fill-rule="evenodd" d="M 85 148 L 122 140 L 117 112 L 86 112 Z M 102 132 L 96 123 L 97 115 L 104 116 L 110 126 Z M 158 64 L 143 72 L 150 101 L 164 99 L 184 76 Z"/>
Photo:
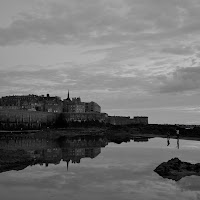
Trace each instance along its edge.
<path fill-rule="evenodd" d="M 174 4 L 175 3 L 175 4 Z M 199 2 L 183 0 L 50 1 L 0 28 L 0 45 L 119 43 L 199 31 Z"/>

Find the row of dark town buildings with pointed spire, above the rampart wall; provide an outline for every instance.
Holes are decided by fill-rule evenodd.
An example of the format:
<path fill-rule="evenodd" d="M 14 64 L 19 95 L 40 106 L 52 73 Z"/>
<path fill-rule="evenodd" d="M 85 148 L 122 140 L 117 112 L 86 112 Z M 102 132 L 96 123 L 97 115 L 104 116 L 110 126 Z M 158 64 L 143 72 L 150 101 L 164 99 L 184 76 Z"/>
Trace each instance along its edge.
<path fill-rule="evenodd" d="M 12 95 L 0 98 L 0 108 L 13 110 L 43 111 L 52 113 L 101 113 L 101 107 L 94 101 L 82 102 L 80 97 L 70 98 L 69 90 L 66 99 L 58 96 Z"/>

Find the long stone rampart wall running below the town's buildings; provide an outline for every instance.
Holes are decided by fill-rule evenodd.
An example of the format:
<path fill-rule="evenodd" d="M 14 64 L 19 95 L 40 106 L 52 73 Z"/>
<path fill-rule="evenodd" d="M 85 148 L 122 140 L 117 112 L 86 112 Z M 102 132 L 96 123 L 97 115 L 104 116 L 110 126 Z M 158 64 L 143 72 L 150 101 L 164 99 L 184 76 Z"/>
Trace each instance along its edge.
<path fill-rule="evenodd" d="M 113 125 L 148 124 L 148 117 L 109 116 L 106 113 L 52 113 L 41 111 L 26 111 L 0 109 L 0 130 L 41 129 L 55 127 L 58 120 L 92 121 L 110 123 Z"/>

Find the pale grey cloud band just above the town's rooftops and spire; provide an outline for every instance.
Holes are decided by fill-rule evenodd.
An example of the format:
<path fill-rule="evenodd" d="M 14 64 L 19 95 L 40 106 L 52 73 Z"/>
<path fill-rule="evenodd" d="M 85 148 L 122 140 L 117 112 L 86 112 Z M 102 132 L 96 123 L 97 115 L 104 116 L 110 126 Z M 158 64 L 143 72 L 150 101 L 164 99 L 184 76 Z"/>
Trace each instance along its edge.
<path fill-rule="evenodd" d="M 79 67 L 68 66 L 67 63 L 63 63 L 54 66 L 54 68 L 32 70 L 27 66 L 27 69 L 22 66 L 22 69 L 10 69 L 1 70 L 0 72 L 0 86 L 2 87 L 21 87 L 18 92 L 23 88 L 29 87 L 30 91 L 38 92 L 40 90 L 58 90 L 64 93 L 68 87 L 72 90 L 88 90 L 88 91 L 122 91 L 130 88 L 147 86 L 148 83 L 140 79 L 140 72 L 133 70 L 132 76 L 125 76 L 125 74 L 119 74 L 118 71 L 113 71 L 112 68 L 105 69 L 103 72 L 98 72 L 98 66 L 91 67 Z M 138 88 L 137 88 L 138 90 Z M 142 89 L 141 89 L 142 90 Z"/>

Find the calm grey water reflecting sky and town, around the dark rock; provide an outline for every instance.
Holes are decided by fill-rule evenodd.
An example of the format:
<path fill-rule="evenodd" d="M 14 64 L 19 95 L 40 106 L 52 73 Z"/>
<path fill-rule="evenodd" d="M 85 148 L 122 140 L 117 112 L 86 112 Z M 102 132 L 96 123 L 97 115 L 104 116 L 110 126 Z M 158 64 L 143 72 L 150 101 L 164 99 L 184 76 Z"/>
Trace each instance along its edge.
<path fill-rule="evenodd" d="M 0 141 L 1 149 L 24 149 L 32 166 L 0 173 L 2 200 L 200 199 L 200 177 L 175 182 L 153 170 L 173 157 L 200 162 L 200 142 L 152 138 L 107 143 L 106 139 Z"/>

